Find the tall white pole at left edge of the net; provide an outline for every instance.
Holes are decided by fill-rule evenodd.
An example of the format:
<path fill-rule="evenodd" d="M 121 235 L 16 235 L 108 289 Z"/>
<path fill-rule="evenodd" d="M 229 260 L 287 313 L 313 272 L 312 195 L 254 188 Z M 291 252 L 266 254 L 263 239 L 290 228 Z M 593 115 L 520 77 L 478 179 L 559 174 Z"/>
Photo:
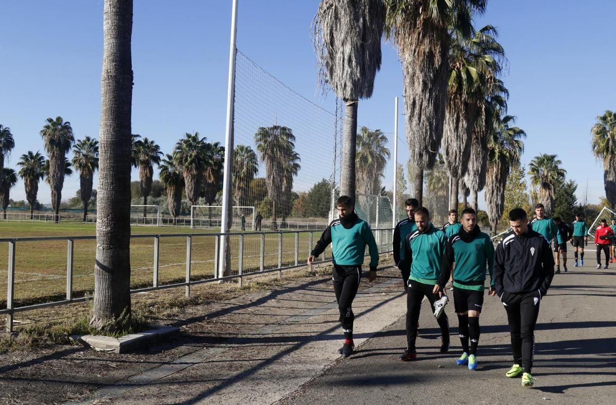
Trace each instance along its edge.
<path fill-rule="evenodd" d="M 235 107 L 235 55 L 237 49 L 235 47 L 237 36 L 237 1 L 233 0 L 231 10 L 231 43 L 229 47 L 229 87 L 227 90 L 227 128 L 225 130 L 225 163 L 224 163 L 224 181 L 222 183 L 222 220 L 221 232 L 229 232 L 229 218 L 231 208 L 231 173 L 233 170 L 233 118 Z M 220 266 L 218 266 L 219 277 L 225 274 L 227 269 L 227 240 L 226 235 L 221 235 L 221 250 Z"/>

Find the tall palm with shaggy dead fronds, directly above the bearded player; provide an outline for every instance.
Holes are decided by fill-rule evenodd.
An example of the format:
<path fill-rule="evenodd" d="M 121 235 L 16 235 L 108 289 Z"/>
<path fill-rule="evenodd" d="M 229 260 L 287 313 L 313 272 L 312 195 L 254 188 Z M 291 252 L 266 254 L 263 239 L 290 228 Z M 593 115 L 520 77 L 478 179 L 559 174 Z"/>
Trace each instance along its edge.
<path fill-rule="evenodd" d="M 486 0 L 386 0 L 387 38 L 402 62 L 409 157 L 417 167 L 413 189 L 423 200 L 424 169 L 436 163 L 447 104 L 450 30 L 469 37 L 472 14 Z"/>

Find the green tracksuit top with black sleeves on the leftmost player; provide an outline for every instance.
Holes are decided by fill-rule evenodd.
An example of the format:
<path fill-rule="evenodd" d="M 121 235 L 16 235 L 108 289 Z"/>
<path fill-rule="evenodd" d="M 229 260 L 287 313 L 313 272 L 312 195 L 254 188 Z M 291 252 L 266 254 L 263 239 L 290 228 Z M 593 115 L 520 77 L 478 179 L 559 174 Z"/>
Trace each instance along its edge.
<path fill-rule="evenodd" d="M 370 252 L 370 268 L 376 269 L 379 264 L 379 249 L 370 226 L 355 213 L 331 221 L 310 255 L 320 255 L 330 243 L 334 264 L 361 266 L 366 246 Z"/>

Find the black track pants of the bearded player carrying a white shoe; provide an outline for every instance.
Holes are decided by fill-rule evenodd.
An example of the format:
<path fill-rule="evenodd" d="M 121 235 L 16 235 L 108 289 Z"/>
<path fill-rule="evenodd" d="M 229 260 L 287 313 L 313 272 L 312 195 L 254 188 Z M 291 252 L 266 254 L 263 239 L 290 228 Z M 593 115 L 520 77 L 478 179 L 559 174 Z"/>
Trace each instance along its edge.
<path fill-rule="evenodd" d="M 434 301 L 439 299 L 439 294 L 433 294 L 432 288 L 434 284 L 423 284 L 415 280 L 408 280 L 407 291 L 407 349 L 415 351 L 415 341 L 417 340 L 417 322 L 419 321 L 419 311 L 421 309 L 421 300 L 423 297 L 428 297 L 430 309 L 434 308 Z M 437 320 L 440 326 L 443 340 L 449 342 L 449 320 L 447 314 L 443 313 Z"/>

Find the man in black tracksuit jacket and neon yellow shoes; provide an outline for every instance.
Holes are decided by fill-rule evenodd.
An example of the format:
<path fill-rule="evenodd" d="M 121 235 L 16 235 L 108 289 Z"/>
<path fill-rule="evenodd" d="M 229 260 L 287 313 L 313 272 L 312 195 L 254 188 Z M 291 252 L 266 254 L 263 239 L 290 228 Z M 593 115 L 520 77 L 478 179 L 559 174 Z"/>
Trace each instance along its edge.
<path fill-rule="evenodd" d="M 554 277 L 554 258 L 548 241 L 527 224 L 522 208 L 509 212 L 511 231 L 498 247 L 494 260 L 494 288 L 511 329 L 514 365 L 507 377 L 522 375 L 522 385 L 532 387 L 535 324 L 541 298 Z"/>

